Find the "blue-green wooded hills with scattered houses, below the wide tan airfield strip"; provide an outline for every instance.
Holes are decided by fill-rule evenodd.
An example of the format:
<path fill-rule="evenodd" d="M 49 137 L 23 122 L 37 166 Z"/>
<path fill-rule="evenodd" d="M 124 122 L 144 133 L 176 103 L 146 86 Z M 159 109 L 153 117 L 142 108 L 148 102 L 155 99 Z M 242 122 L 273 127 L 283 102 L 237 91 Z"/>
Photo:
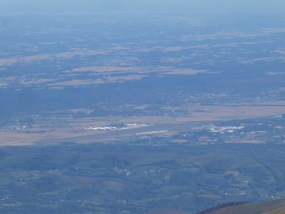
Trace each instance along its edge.
<path fill-rule="evenodd" d="M 195 213 L 285 196 L 285 147 L 132 143 L 1 148 L 1 213 Z"/>

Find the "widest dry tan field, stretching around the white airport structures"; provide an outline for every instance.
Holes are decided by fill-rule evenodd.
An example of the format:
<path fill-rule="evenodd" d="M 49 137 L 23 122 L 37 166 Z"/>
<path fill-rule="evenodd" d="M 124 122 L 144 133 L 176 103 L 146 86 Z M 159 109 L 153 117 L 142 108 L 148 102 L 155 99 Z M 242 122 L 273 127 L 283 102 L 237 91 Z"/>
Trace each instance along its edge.
<path fill-rule="evenodd" d="M 199 111 L 197 111 L 197 109 Z M 141 117 L 96 117 L 96 118 L 48 118 L 46 121 L 17 131 L 0 131 L 0 146 L 28 146 L 41 141 L 77 143 L 92 143 L 96 141 L 116 141 L 129 133 L 145 131 L 160 131 L 167 128 L 165 134 L 175 134 L 172 126 L 184 126 L 191 122 L 227 121 L 232 119 L 261 118 L 277 116 L 285 113 L 285 102 L 274 103 L 240 103 L 224 106 L 189 106 L 189 115 L 183 117 L 171 116 L 141 116 Z M 120 123 L 145 123 L 153 126 L 136 128 L 130 131 L 86 131 L 90 126 L 110 126 Z M 186 125 L 185 125 L 186 126 Z M 188 125 L 187 125 L 188 126 Z M 111 134 L 110 134 L 111 133 Z M 100 138 L 97 138 L 100 136 Z M 179 142 L 180 143 L 180 142 Z"/>

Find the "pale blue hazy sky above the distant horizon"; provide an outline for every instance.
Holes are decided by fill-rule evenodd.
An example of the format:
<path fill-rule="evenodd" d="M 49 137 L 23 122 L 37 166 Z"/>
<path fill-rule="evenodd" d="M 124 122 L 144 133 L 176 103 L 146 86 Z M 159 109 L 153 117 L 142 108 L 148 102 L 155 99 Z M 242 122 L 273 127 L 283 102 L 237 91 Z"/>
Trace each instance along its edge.
<path fill-rule="evenodd" d="M 285 0 L 0 0 L 0 12 L 81 11 L 284 12 Z"/>

